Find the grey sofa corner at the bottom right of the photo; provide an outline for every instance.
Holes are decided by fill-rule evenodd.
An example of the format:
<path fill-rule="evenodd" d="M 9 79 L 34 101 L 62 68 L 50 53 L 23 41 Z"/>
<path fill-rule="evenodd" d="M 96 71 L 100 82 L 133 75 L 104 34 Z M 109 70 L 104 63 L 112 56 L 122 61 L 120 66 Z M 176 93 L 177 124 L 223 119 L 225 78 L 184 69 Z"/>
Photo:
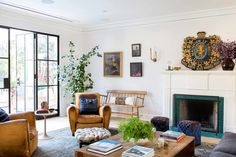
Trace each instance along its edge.
<path fill-rule="evenodd" d="M 213 150 L 214 152 L 223 152 L 236 155 L 236 134 L 231 132 L 225 132 L 220 143 Z"/>

